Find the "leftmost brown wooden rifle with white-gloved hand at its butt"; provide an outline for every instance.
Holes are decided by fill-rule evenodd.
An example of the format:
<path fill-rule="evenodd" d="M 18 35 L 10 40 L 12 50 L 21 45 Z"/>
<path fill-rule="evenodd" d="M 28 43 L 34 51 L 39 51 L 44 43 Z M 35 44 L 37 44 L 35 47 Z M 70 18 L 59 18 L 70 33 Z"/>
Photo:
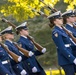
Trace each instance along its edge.
<path fill-rule="evenodd" d="M 16 55 L 12 51 L 8 49 L 8 47 L 0 42 L 0 45 L 6 50 L 6 52 L 15 60 L 16 63 L 20 62 L 22 60 L 21 56 Z"/>

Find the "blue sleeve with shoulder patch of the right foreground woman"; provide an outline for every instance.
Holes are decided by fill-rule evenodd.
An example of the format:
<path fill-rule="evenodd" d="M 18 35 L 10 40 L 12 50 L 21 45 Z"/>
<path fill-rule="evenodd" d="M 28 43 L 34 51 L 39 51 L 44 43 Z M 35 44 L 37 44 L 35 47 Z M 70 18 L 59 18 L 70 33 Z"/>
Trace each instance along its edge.
<path fill-rule="evenodd" d="M 58 32 L 56 32 L 52 34 L 52 38 L 60 53 L 70 62 L 73 62 L 75 57 L 69 52 L 69 49 L 65 47 L 62 36 Z"/>

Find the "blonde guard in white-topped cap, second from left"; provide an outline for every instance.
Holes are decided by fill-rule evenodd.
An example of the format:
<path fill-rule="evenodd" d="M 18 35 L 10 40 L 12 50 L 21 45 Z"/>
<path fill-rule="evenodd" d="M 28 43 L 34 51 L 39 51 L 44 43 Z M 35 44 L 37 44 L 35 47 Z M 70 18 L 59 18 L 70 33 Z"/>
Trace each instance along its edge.
<path fill-rule="evenodd" d="M 12 31 L 12 26 L 9 26 L 1 31 L 1 34 L 3 35 L 3 38 L 5 39 L 5 44 L 8 46 L 9 50 L 21 56 L 21 53 L 13 44 L 14 33 Z M 28 75 L 26 70 L 23 68 L 22 62 L 16 63 L 14 60 L 11 60 L 11 65 L 16 75 Z"/>

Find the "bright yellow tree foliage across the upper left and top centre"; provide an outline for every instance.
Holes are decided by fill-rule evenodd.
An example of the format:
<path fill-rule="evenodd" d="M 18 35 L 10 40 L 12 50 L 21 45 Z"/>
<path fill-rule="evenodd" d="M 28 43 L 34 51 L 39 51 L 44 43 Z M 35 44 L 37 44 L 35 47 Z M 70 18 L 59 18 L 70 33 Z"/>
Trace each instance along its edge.
<path fill-rule="evenodd" d="M 59 0 L 44 0 L 47 5 L 51 5 L 52 7 L 54 7 L 58 1 Z M 18 21 L 22 21 L 38 15 L 31 10 L 32 8 L 40 11 L 44 6 L 40 0 L 8 0 L 6 4 L 0 6 L 0 12 L 3 13 L 4 16 L 12 15 Z M 44 11 L 47 15 L 50 13 L 46 9 L 44 9 Z"/>

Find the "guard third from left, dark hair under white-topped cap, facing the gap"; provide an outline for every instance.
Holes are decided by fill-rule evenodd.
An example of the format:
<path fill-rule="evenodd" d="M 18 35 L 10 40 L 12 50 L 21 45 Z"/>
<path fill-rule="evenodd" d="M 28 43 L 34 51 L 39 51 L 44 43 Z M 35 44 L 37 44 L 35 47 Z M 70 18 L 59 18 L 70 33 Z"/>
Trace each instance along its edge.
<path fill-rule="evenodd" d="M 30 71 L 30 75 L 46 75 L 41 65 L 38 63 L 35 56 L 41 55 L 45 52 L 43 50 L 43 53 L 41 53 L 38 50 L 35 50 L 34 44 L 27 38 L 29 35 L 28 28 L 27 28 L 27 22 L 22 23 L 21 25 L 16 27 L 16 30 L 18 31 L 18 34 L 20 34 L 20 38 L 18 40 L 18 43 L 22 45 L 22 48 L 34 52 L 34 55 L 29 58 L 29 61 L 33 62 L 33 65 L 35 66 L 35 70 Z"/>

